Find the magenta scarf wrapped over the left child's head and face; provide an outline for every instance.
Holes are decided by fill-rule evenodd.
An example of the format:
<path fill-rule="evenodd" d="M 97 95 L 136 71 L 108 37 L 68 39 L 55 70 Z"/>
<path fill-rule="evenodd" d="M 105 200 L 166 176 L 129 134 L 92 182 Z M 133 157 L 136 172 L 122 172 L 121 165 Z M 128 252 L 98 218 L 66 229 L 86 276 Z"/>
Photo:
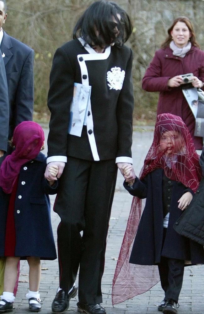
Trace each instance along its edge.
<path fill-rule="evenodd" d="M 21 166 L 37 157 L 44 140 L 43 129 L 36 122 L 24 121 L 15 128 L 15 150 L 5 158 L 0 168 L 0 186 L 5 193 L 12 192 Z"/>

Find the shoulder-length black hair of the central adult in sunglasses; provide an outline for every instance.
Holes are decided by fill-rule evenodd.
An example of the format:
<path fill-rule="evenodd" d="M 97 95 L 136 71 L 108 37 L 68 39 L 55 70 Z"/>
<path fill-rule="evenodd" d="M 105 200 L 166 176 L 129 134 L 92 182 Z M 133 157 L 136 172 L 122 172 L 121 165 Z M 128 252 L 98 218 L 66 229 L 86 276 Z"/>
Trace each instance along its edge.
<path fill-rule="evenodd" d="M 117 14 L 120 14 L 121 19 Z M 117 24 L 113 22 L 113 17 Z M 116 26 L 119 30 L 117 36 Z M 96 30 L 99 35 L 96 35 Z M 110 46 L 113 42 L 121 47 L 131 33 L 132 24 L 128 14 L 115 2 L 100 0 L 91 4 L 78 20 L 73 30 L 73 39 L 83 37 L 90 46 L 97 45 L 100 48 Z"/>

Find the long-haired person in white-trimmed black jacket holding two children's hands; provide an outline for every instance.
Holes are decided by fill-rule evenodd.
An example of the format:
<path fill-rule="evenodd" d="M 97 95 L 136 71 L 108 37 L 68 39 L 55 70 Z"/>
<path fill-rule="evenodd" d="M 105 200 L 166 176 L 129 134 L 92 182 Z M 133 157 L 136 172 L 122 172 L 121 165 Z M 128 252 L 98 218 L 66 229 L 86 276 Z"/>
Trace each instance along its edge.
<path fill-rule="evenodd" d="M 106 313 L 101 279 L 117 166 L 123 174 L 123 165 L 132 164 L 132 51 L 123 45 L 131 32 L 124 10 L 97 1 L 53 59 L 47 162 L 59 166 L 58 178 L 62 174 L 55 203 L 61 223 L 54 313 L 66 311 L 76 295 L 79 264 L 78 311 Z M 126 179 L 133 177 L 134 171 Z"/>

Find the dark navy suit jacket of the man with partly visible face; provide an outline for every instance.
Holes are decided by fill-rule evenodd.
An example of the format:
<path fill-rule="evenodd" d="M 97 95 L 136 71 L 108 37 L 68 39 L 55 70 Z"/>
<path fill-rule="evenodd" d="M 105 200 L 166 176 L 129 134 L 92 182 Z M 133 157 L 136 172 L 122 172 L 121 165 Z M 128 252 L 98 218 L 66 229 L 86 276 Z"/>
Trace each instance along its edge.
<path fill-rule="evenodd" d="M 32 120 L 34 104 L 34 51 L 3 32 L 2 54 L 8 82 L 9 138 L 22 121 Z"/>

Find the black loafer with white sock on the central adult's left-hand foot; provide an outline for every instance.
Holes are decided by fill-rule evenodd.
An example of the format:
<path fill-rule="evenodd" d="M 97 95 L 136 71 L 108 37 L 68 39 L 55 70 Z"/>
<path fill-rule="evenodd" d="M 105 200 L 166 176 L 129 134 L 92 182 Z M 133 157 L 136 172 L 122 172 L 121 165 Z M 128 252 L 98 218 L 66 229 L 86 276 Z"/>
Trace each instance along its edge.
<path fill-rule="evenodd" d="M 53 313 L 64 313 L 69 307 L 69 300 L 74 298 L 77 294 L 78 287 L 73 287 L 72 291 L 68 294 L 64 290 L 57 292 L 53 302 L 52 302 L 52 312 Z"/>

